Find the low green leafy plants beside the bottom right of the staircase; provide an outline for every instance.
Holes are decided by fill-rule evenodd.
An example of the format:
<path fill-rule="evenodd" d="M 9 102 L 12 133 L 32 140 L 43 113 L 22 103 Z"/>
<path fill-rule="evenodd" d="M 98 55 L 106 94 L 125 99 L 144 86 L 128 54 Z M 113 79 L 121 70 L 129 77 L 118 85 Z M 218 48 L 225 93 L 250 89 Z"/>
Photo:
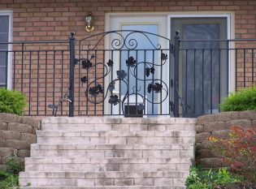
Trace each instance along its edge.
<path fill-rule="evenodd" d="M 202 170 L 200 167 L 192 167 L 185 184 L 188 189 L 213 189 L 234 186 L 240 182 L 241 178 L 230 174 L 226 169 L 213 171 Z"/>

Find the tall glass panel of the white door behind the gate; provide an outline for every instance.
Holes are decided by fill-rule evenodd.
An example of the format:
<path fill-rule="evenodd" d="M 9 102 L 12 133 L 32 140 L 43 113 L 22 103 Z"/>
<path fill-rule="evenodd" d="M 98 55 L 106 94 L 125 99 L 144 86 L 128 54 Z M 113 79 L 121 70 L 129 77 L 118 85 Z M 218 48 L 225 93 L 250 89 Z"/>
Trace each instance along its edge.
<path fill-rule="evenodd" d="M 158 34 L 158 25 L 123 25 L 122 30 L 138 30 Z M 158 46 L 158 37 L 147 35 L 147 37 L 149 37 L 149 39 L 147 39 L 147 37 L 145 37 L 143 34 L 134 33 L 129 35 L 129 33 L 130 32 L 124 32 L 122 34 L 124 38 L 127 37 L 126 45 L 124 45 L 124 48 L 120 54 L 121 65 L 116 68 L 116 70 L 124 70 L 126 73 L 128 73 L 128 86 L 124 84 L 124 82 L 121 82 L 119 85 L 119 95 L 121 99 L 123 99 L 125 95 L 128 94 L 128 98 L 126 98 L 124 105 L 135 105 L 136 101 L 137 105 L 144 105 L 145 102 L 144 114 L 151 114 L 151 116 L 154 116 L 158 114 L 158 104 L 151 102 L 158 101 L 158 94 L 155 92 L 148 92 L 147 87 L 150 83 L 152 83 L 152 79 L 158 78 L 158 67 L 154 66 L 154 74 L 150 74 L 147 77 L 145 76 L 145 68 L 147 67 L 145 62 L 154 62 L 154 64 L 158 64 L 158 51 L 153 50 L 154 46 Z M 135 46 L 136 48 L 134 49 Z M 128 68 L 126 61 L 131 57 L 136 60 L 137 66 Z M 149 101 L 143 102 L 144 98 L 148 99 Z"/>

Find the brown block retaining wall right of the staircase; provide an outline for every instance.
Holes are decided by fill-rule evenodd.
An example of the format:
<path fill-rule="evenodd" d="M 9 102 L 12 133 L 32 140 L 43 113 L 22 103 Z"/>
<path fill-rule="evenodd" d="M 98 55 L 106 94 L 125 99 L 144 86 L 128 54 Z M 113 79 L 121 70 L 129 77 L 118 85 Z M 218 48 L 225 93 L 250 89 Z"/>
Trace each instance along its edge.
<path fill-rule="evenodd" d="M 256 111 L 223 112 L 209 114 L 197 120 L 196 158 L 205 168 L 222 167 L 221 157 L 210 152 L 209 136 L 228 137 L 229 128 L 241 126 L 251 128 L 256 126 Z"/>

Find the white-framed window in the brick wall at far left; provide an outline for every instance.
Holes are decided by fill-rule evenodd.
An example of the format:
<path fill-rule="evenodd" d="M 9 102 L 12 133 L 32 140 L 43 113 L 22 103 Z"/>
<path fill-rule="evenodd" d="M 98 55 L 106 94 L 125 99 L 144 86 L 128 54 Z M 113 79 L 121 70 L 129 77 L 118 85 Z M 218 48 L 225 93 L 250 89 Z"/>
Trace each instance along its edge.
<path fill-rule="evenodd" d="M 0 24 L 0 88 L 11 88 L 11 11 L 0 11 Z"/>

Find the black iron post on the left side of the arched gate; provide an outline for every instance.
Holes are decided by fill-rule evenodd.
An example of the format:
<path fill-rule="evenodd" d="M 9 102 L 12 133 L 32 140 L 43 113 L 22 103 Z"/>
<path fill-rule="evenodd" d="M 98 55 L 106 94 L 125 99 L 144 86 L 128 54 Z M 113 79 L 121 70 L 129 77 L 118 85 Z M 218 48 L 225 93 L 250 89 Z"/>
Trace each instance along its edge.
<path fill-rule="evenodd" d="M 70 67 L 69 67 L 69 114 L 68 117 L 74 117 L 74 75 L 75 75 L 75 32 L 71 32 L 69 37 L 69 51 L 70 51 Z"/>

